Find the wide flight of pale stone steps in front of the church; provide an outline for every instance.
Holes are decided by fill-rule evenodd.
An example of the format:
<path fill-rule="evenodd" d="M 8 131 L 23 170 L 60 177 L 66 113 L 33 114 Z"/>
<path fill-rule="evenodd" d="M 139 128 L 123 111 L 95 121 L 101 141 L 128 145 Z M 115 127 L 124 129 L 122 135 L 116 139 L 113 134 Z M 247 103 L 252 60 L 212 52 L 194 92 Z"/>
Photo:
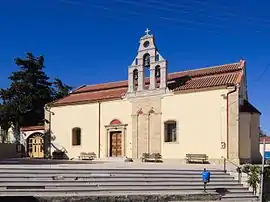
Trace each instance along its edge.
<path fill-rule="evenodd" d="M 200 169 L 141 168 L 95 165 L 48 167 L 12 165 L 0 167 L 1 196 L 90 196 L 123 193 L 189 194 L 202 193 Z M 144 164 L 142 164 L 144 165 Z M 130 166 L 130 167 L 129 167 Z M 149 166 L 149 165 L 148 165 Z M 153 165 L 155 166 L 155 165 Z M 165 166 L 165 165 L 163 165 Z M 256 199 L 257 197 L 222 170 L 212 169 L 207 192 L 226 189 L 223 199 Z"/>

